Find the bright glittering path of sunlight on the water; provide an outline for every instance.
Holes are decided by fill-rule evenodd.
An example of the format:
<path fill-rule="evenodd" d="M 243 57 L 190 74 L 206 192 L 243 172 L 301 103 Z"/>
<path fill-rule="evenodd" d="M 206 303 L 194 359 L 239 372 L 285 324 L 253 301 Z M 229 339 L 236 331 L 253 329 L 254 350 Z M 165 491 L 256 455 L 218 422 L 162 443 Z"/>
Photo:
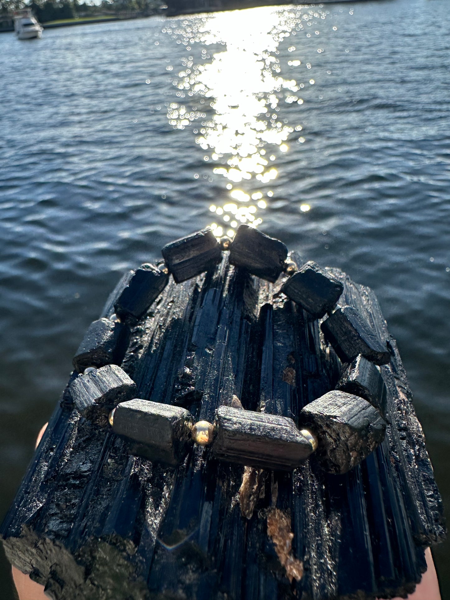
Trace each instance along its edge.
<path fill-rule="evenodd" d="M 179 99 L 169 104 L 167 118 L 176 129 L 195 127 L 196 143 L 208 152 L 205 161 L 211 159 L 213 173 L 228 181 L 229 197 L 210 206 L 215 214 L 211 226 L 218 237 L 232 237 L 240 223 L 262 223 L 260 214 L 273 196 L 268 186 L 278 175 L 275 149 L 287 152 L 286 142 L 305 141 L 299 136 L 300 124 L 279 118 L 278 105 L 302 104 L 302 88 L 314 85 L 311 64 L 296 58 L 295 44 L 301 46 L 302 34 L 319 40 L 319 27 L 327 14 L 322 5 L 260 7 L 189 16 L 172 20 L 163 29 L 189 53 L 182 59 L 183 70 L 173 76 Z M 190 55 L 195 44 L 203 46 L 198 60 Z M 205 46 L 211 44 L 226 49 L 210 56 Z M 280 44 L 287 44 L 286 52 L 292 56 L 284 62 L 299 67 L 305 83 L 281 75 Z M 200 107 L 187 107 L 192 102 L 189 97 Z M 309 209 L 301 206 L 304 212 Z"/>

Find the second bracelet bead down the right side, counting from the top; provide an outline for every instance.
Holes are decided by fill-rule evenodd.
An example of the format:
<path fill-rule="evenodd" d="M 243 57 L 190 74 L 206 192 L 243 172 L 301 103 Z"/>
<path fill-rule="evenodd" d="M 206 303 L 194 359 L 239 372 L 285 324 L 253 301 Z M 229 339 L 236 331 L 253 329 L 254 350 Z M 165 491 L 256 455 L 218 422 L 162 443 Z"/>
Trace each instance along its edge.
<path fill-rule="evenodd" d="M 281 292 L 308 311 L 314 319 L 320 319 L 334 307 L 343 289 L 340 281 L 310 260 L 289 277 Z"/>

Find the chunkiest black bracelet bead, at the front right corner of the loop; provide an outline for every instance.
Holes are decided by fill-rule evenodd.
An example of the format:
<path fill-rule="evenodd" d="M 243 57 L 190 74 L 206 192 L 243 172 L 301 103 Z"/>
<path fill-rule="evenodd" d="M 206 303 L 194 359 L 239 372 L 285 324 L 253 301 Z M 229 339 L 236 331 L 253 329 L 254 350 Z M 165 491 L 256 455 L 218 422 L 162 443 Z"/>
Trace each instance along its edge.
<path fill-rule="evenodd" d="M 346 473 L 380 445 L 386 423 L 367 400 L 334 389 L 300 413 L 302 426 L 317 436 L 316 455 L 328 473 Z"/>

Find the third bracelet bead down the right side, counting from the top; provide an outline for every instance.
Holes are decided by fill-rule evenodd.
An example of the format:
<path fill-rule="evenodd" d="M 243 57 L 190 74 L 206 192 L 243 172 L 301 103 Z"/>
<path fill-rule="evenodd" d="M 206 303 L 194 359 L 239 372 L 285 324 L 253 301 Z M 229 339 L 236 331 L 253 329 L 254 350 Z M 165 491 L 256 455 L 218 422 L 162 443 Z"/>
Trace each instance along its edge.
<path fill-rule="evenodd" d="M 351 306 L 335 310 L 320 327 L 342 362 L 352 362 L 358 354 L 377 365 L 384 365 L 391 358 L 386 343 L 382 344 L 364 317 Z"/>

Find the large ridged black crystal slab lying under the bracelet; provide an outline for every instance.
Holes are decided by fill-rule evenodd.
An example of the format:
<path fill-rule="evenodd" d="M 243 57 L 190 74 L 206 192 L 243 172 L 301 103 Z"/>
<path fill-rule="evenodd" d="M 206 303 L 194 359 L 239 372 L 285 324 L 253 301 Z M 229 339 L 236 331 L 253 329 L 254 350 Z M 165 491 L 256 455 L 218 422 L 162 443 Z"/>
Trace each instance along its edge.
<path fill-rule="evenodd" d="M 143 317 L 134 329 L 122 363 L 138 388 L 131 398 L 183 406 L 196 421 L 211 423 L 218 407 L 230 403 L 246 420 L 284 416 L 280 429 L 295 439 L 289 417 L 297 424 L 301 408 L 331 389 L 342 365 L 333 351 L 323 352 L 317 320 L 306 321 L 305 312 L 278 293 L 280 286 L 229 268 L 228 257 L 225 252 L 214 277 L 179 285 L 169 278 L 152 305 L 154 317 Z M 168 468 L 130 454 L 138 442 L 112 427 L 80 418 L 64 392 L 0 527 L 8 560 L 54 600 L 374 600 L 411 594 L 427 568 L 425 548 L 445 538 L 442 500 L 377 299 L 333 272 L 345 281 L 344 304 L 367 315 L 392 348 L 391 364 L 382 367 L 390 425 L 361 464 L 330 475 L 316 451 L 296 469 L 272 476 L 214 458 L 219 435 L 211 446 L 193 446 L 178 468 Z M 113 313 L 126 283 L 127 277 L 102 316 Z M 236 397 L 247 414 L 238 410 Z M 356 402 L 363 414 L 368 406 L 370 419 L 373 412 L 379 418 L 365 400 Z M 250 414 L 258 406 L 265 413 Z M 343 423 L 338 412 L 329 422 L 322 410 L 317 421 L 326 421 L 330 445 L 354 433 L 343 443 L 357 454 L 359 430 L 346 425 L 347 410 Z M 118 424 L 119 413 L 113 427 Z M 264 428 L 268 436 L 257 454 L 278 466 L 286 460 L 285 448 L 273 458 L 274 431 Z M 244 436 L 237 448 L 243 462 L 254 440 L 249 433 L 250 445 Z M 224 458 L 233 460 L 241 435 L 227 437 Z M 290 454 L 292 447 L 286 448 Z M 309 452 L 299 453 L 292 466 Z"/>

